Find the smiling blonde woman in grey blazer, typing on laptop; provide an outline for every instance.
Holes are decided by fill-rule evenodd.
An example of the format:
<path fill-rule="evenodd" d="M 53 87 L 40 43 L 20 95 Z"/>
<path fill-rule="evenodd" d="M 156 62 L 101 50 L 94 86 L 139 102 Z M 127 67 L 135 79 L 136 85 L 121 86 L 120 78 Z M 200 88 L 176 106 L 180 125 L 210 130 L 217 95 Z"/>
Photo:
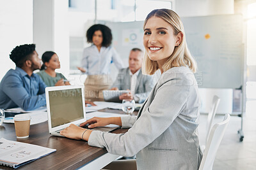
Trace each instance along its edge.
<path fill-rule="evenodd" d="M 186 45 L 182 22 L 172 10 L 153 10 L 143 29 L 143 71 L 154 74 L 160 69 L 162 74 L 138 116 L 92 118 L 81 127 L 70 125 L 61 134 L 116 155 L 136 154 L 136 160 L 129 162 L 131 166 L 136 162 L 133 169 L 198 169 L 202 153 L 197 129 L 200 99 L 193 74 L 196 62 Z M 125 134 L 111 134 L 83 129 L 85 124 L 90 124 L 89 128 L 116 124 L 131 129 Z M 118 161 L 104 169 L 113 169 L 116 164 Z"/>

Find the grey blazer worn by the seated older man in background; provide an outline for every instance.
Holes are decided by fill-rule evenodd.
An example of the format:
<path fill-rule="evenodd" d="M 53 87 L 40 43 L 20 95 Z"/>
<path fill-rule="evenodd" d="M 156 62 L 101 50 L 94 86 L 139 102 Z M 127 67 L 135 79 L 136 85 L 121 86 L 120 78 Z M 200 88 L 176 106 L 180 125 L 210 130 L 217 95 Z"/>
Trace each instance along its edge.
<path fill-rule="evenodd" d="M 154 85 L 156 85 L 156 79 L 153 76 L 143 75 L 140 70 L 137 76 L 134 92 L 134 100 L 136 103 L 143 103 L 147 99 Z M 129 67 L 119 70 L 112 87 L 117 87 L 119 90 L 131 89 Z"/>

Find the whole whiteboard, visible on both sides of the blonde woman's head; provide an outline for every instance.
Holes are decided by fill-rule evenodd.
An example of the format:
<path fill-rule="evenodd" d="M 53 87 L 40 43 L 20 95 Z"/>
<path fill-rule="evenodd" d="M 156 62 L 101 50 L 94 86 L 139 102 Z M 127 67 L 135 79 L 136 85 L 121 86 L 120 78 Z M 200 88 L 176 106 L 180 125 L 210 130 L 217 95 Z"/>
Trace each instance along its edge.
<path fill-rule="evenodd" d="M 212 15 L 181 18 L 188 48 L 195 57 L 198 87 L 236 89 L 243 84 L 243 17 Z M 143 21 L 108 23 L 113 46 L 125 63 L 129 52 L 143 47 Z"/>

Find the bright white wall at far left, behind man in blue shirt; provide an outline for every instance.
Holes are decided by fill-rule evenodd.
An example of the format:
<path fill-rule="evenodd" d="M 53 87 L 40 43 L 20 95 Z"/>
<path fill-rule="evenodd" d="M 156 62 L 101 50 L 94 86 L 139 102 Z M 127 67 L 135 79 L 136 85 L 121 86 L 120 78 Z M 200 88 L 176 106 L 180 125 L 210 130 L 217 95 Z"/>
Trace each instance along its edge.
<path fill-rule="evenodd" d="M 10 52 L 26 43 L 33 43 L 33 0 L 0 0 L 0 81 L 15 69 Z"/>

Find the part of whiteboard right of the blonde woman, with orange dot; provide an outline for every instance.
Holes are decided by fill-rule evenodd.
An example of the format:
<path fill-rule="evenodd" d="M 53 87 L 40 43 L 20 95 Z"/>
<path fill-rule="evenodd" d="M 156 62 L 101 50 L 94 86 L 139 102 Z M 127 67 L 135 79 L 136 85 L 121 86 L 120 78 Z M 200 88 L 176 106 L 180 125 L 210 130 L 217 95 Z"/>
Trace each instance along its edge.
<path fill-rule="evenodd" d="M 236 89 L 243 85 L 243 17 L 182 18 L 188 48 L 198 64 L 199 87 Z"/>

